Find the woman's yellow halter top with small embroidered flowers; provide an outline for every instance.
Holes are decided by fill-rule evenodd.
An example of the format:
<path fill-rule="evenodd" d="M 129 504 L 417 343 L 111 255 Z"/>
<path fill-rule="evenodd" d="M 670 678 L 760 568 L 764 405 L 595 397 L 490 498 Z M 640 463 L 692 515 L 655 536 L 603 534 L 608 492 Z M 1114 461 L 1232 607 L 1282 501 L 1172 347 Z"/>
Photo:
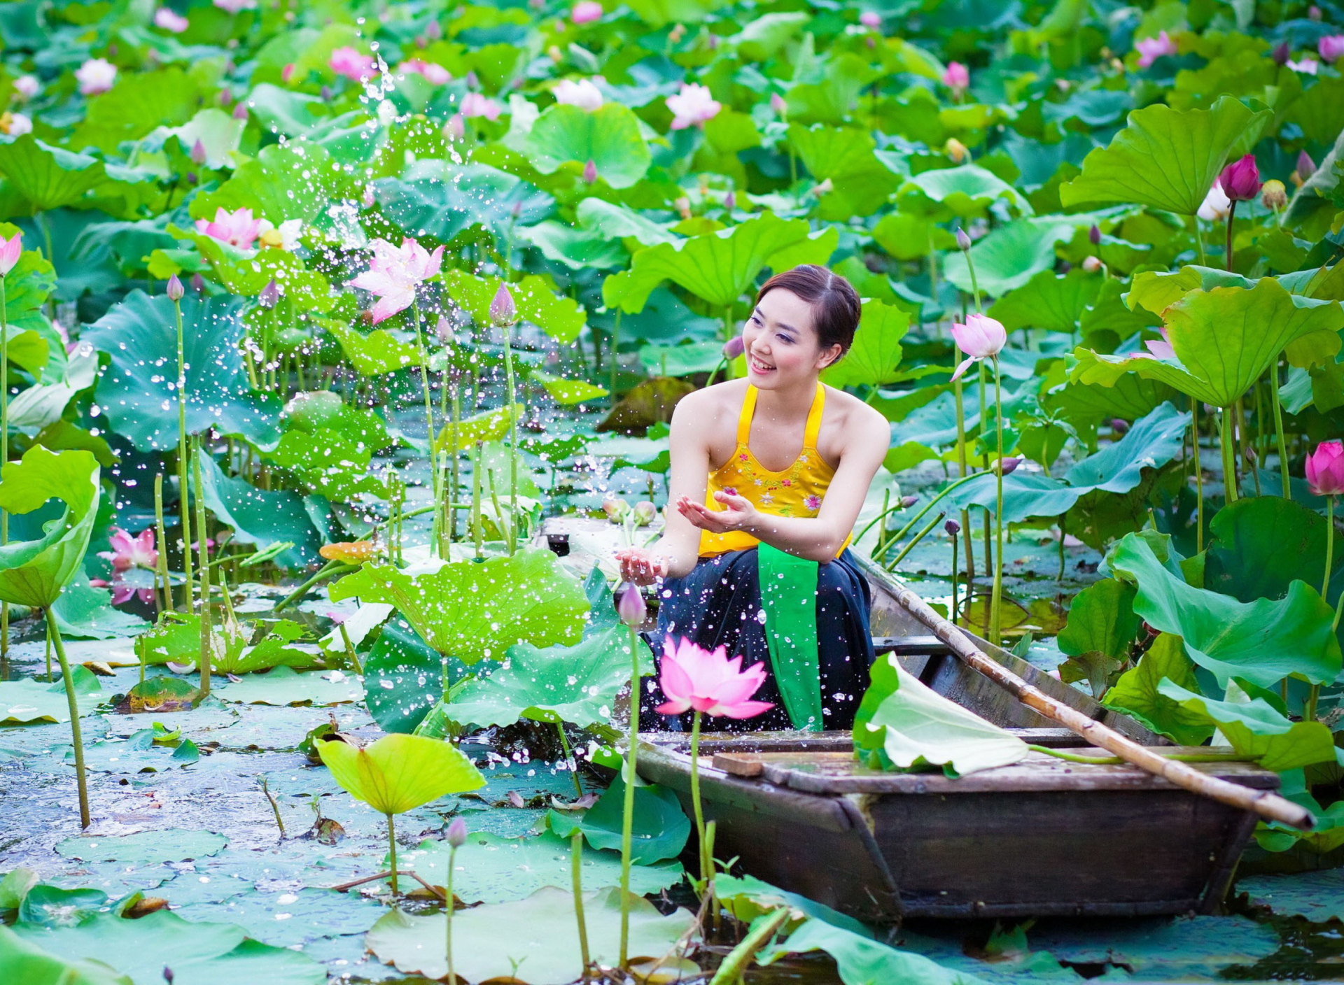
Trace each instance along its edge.
<path fill-rule="evenodd" d="M 821 431 L 821 413 L 827 404 L 827 391 L 817 383 L 817 395 L 812 399 L 812 410 L 808 411 L 808 425 L 802 433 L 802 452 L 793 460 L 784 472 L 770 472 L 751 454 L 747 446 L 751 437 L 751 418 L 755 414 L 757 388 L 747 386 L 747 395 L 742 400 L 742 414 L 738 418 L 738 445 L 723 465 L 710 473 L 710 482 L 706 489 L 706 507 L 722 511 L 723 507 L 714 499 L 714 493 L 726 492 L 730 496 L 742 496 L 762 513 L 775 516 L 816 516 L 821 509 L 821 500 L 827 495 L 827 488 L 835 477 L 836 470 L 827 465 L 817 452 L 817 434 Z M 711 533 L 700 531 L 700 556 L 714 558 L 728 551 L 742 551 L 755 547 L 761 542 L 743 531 L 728 531 L 727 533 Z M 836 556 L 849 546 L 845 538 Z"/>

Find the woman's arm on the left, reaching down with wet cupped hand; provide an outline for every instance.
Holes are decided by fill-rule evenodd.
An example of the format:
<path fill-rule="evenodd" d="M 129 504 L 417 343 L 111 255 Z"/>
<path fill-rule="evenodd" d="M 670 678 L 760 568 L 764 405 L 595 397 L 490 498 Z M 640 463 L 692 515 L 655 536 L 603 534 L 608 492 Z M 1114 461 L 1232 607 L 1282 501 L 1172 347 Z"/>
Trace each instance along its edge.
<path fill-rule="evenodd" d="M 681 499 L 704 501 L 710 484 L 708 434 L 711 407 L 706 399 L 688 394 L 672 411 L 672 434 L 668 445 L 672 458 L 669 503 Z M 691 572 L 700 556 L 700 531 L 675 509 L 664 511 L 663 536 L 648 548 L 617 551 L 621 576 L 636 585 L 652 585 L 656 578 L 681 578 Z"/>

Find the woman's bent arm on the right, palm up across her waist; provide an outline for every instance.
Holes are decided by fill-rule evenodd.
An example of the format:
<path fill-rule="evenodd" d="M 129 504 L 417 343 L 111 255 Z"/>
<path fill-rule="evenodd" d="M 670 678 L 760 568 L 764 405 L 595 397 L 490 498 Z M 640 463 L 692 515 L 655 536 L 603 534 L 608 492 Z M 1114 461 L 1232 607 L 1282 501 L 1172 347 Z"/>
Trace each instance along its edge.
<path fill-rule="evenodd" d="M 827 488 L 821 512 L 814 517 L 790 517 L 762 513 L 742 496 L 715 493 L 724 509 L 707 508 L 703 501 L 691 497 L 675 499 L 677 512 L 700 529 L 715 533 L 743 531 L 757 540 L 808 560 L 833 560 L 845 538 L 853 531 L 853 524 L 863 509 L 872 477 L 891 442 L 891 429 L 876 411 L 864 407 L 849 429 L 840 457 L 840 466 Z M 673 490 L 675 492 L 675 490 Z M 702 486 L 700 499 L 704 489 Z M 668 511 L 671 512 L 671 511 Z"/>

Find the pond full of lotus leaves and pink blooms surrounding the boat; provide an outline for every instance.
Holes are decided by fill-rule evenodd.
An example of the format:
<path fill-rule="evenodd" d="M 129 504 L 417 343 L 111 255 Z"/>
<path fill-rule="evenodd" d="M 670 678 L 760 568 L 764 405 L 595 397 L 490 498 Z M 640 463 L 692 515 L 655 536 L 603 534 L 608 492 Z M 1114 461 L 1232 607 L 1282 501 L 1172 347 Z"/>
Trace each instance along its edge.
<path fill-rule="evenodd" d="M 12 0 L 0 39 L 0 981 L 1341 977 L 1344 7 Z M 853 550 L 1314 817 L 1216 915 L 870 927 L 626 786 L 612 552 L 801 263 L 891 425 Z"/>

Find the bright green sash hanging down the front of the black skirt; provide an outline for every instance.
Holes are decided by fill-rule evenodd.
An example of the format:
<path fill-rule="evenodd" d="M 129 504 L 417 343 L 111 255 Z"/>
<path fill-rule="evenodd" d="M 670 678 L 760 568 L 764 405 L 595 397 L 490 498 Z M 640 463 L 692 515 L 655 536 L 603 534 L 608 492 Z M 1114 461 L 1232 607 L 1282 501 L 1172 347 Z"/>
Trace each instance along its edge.
<path fill-rule="evenodd" d="M 817 661 L 817 562 L 757 547 L 761 606 L 770 665 L 794 728 L 821 731 L 821 671 Z"/>

